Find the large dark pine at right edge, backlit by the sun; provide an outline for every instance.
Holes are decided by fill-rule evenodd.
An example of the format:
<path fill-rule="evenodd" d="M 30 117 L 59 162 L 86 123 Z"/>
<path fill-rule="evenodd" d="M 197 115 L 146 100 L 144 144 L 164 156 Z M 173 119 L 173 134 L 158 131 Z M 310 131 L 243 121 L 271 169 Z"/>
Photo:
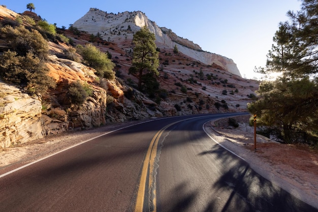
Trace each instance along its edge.
<path fill-rule="evenodd" d="M 318 138 L 318 1 L 303 0 L 301 11 L 287 13 L 273 38 L 263 74 L 277 72 L 275 81 L 262 82 L 258 100 L 248 104 L 259 123 L 281 132 L 285 143 Z M 315 138 L 313 138 L 315 137 Z"/>

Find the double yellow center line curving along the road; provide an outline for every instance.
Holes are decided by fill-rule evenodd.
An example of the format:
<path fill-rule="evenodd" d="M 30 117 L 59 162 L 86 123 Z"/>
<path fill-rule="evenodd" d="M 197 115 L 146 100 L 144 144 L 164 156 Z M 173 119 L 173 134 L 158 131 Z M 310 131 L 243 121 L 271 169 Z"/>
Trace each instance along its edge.
<path fill-rule="evenodd" d="M 184 121 L 184 120 L 181 120 Z M 154 137 L 151 140 L 151 143 L 149 145 L 149 148 L 147 150 L 147 154 L 143 163 L 143 167 L 142 167 L 142 172 L 141 172 L 141 177 L 140 177 L 140 183 L 139 183 L 139 189 L 138 189 L 138 193 L 137 193 L 137 200 L 136 200 L 136 206 L 135 206 L 135 212 L 142 212 L 143 211 L 143 206 L 144 206 L 144 199 L 145 199 L 145 192 L 149 192 L 150 193 L 150 189 L 151 186 L 153 184 L 154 181 L 154 162 L 155 162 L 155 158 L 157 155 L 157 148 L 158 148 L 158 142 L 159 139 L 162 135 L 162 133 L 171 125 L 174 125 L 178 122 L 181 121 L 176 121 L 173 122 L 167 126 L 165 126 L 164 128 L 162 128 L 160 131 L 158 131 Z M 149 175 L 148 175 L 149 173 Z M 146 188 L 146 182 L 147 182 L 147 177 L 148 179 L 148 187 Z M 156 191 L 155 191 L 155 187 L 152 190 L 152 211 L 156 211 Z"/>

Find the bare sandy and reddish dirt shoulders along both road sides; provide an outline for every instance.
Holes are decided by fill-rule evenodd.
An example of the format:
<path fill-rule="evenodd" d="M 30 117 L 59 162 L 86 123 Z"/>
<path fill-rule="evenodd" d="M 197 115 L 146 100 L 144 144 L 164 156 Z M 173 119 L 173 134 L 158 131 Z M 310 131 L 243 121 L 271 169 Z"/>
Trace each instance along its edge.
<path fill-rule="evenodd" d="M 143 121 L 67 132 L 0 149 L 0 178 L 8 171 L 72 147 L 83 140 Z M 257 138 L 255 150 L 254 135 L 251 132 L 215 127 L 212 122 L 205 125 L 205 130 L 215 142 L 243 158 L 251 168 L 272 183 L 318 208 L 318 151 L 306 146 L 282 145 L 262 137 Z"/>

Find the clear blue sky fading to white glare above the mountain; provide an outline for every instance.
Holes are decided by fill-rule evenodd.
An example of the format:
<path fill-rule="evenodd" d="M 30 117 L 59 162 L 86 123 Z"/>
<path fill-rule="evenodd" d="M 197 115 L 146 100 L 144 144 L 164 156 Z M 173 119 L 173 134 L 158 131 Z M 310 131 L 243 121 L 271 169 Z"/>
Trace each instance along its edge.
<path fill-rule="evenodd" d="M 254 69 L 265 66 L 279 22 L 301 6 L 299 0 L 0 0 L 16 13 L 27 10 L 28 3 L 48 23 L 67 28 L 90 8 L 116 14 L 141 11 L 202 50 L 233 59 L 247 79 L 260 77 Z"/>

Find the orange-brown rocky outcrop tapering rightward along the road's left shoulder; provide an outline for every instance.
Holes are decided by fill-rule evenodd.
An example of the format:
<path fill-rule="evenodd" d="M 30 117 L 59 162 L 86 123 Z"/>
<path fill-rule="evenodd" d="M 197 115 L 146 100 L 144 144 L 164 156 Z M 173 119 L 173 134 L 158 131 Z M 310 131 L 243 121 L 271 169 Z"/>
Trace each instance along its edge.
<path fill-rule="evenodd" d="M 47 66 L 57 87 L 50 92 L 47 100 L 49 103 L 43 112 L 45 135 L 163 116 L 158 105 L 142 93 L 123 87 L 118 81 L 99 81 L 94 69 L 81 63 L 55 56 L 51 56 L 51 60 Z M 68 87 L 74 81 L 87 84 L 92 90 L 91 95 L 81 105 L 72 105 L 69 102 Z M 132 99 L 125 97 L 124 92 L 134 92 Z"/>

